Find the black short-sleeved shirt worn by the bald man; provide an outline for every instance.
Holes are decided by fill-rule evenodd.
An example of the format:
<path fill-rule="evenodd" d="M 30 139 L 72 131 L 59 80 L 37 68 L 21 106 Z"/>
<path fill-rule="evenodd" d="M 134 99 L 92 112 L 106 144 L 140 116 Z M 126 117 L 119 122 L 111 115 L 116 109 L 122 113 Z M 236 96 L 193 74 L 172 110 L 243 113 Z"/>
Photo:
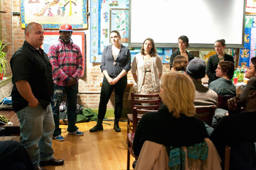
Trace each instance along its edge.
<path fill-rule="evenodd" d="M 47 54 L 41 48 L 37 50 L 24 41 L 24 44 L 11 57 L 10 64 L 13 72 L 14 86 L 11 97 L 14 111 L 28 106 L 27 100 L 16 88 L 15 82 L 19 80 L 26 80 L 30 84 L 32 93 L 46 109 L 53 93 L 52 66 Z"/>

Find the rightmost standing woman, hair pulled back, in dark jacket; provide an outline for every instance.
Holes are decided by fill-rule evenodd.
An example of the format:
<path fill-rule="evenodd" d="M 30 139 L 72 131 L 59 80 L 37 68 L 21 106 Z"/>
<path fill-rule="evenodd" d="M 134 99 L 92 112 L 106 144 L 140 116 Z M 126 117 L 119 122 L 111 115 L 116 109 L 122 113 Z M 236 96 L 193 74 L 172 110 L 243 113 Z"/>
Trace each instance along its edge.
<path fill-rule="evenodd" d="M 216 54 L 214 54 L 213 56 L 210 56 L 207 62 L 207 76 L 209 78 L 208 84 L 218 79 L 218 77 L 216 76 L 215 70 L 217 69 L 219 62 L 231 61 L 234 63 L 233 56 L 230 56 L 229 54 L 226 54 L 224 52 L 225 48 L 226 48 L 226 43 L 224 39 L 215 41 L 214 49 L 216 51 Z"/>

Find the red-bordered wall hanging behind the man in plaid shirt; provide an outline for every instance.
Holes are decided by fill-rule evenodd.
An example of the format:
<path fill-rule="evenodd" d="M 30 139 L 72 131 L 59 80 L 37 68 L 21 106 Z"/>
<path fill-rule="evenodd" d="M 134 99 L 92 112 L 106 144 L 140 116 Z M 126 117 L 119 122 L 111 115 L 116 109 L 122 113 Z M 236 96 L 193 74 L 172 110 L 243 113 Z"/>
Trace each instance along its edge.
<path fill-rule="evenodd" d="M 59 32 L 44 32 L 44 41 L 43 41 L 42 49 L 48 56 L 49 56 L 49 47 L 52 44 L 55 44 L 59 40 L 59 36 L 60 36 Z M 86 63 L 86 61 L 85 61 L 85 58 L 86 58 L 85 33 L 84 32 L 73 32 L 71 39 L 72 39 L 73 43 L 78 45 L 81 49 L 82 58 L 83 58 L 83 62 L 82 62 L 82 76 L 83 76 L 84 72 L 85 72 L 85 63 Z"/>

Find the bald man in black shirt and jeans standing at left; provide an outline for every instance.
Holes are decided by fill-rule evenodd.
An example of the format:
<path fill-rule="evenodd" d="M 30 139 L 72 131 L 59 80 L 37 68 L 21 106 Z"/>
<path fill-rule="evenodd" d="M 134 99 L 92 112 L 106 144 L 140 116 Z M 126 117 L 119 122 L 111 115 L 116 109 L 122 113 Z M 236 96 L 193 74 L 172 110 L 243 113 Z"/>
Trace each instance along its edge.
<path fill-rule="evenodd" d="M 10 61 L 14 84 L 11 96 L 20 121 L 21 143 L 37 169 L 43 169 L 40 165 L 64 164 L 64 160 L 53 158 L 55 125 L 49 105 L 53 92 L 52 69 L 47 54 L 40 48 L 43 32 L 42 25 L 29 23 L 24 44 Z"/>

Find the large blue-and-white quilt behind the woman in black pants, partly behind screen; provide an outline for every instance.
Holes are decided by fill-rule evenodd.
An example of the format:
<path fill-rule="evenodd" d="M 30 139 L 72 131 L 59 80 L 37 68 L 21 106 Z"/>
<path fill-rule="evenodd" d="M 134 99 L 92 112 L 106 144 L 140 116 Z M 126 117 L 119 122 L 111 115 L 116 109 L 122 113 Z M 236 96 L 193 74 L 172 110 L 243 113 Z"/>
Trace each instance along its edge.
<path fill-rule="evenodd" d="M 129 0 L 90 1 L 90 62 L 101 62 L 105 46 L 110 44 L 109 33 L 118 30 L 121 43 L 128 46 L 129 41 Z M 150 36 L 150 35 L 148 35 Z M 163 63 L 168 63 L 172 48 L 156 48 Z M 141 52 L 141 48 L 130 48 L 131 59 Z"/>

